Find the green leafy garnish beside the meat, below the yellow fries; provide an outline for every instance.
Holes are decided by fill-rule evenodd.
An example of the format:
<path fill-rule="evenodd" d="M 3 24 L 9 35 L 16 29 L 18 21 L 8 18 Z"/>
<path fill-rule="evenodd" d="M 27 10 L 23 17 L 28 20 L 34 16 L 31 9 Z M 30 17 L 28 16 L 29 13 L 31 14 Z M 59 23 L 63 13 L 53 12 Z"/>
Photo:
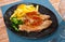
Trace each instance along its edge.
<path fill-rule="evenodd" d="M 12 27 L 13 27 L 16 31 L 18 31 L 17 26 L 24 24 L 23 20 L 17 19 L 16 17 L 12 17 L 12 18 L 11 18 L 11 22 L 12 22 Z"/>

